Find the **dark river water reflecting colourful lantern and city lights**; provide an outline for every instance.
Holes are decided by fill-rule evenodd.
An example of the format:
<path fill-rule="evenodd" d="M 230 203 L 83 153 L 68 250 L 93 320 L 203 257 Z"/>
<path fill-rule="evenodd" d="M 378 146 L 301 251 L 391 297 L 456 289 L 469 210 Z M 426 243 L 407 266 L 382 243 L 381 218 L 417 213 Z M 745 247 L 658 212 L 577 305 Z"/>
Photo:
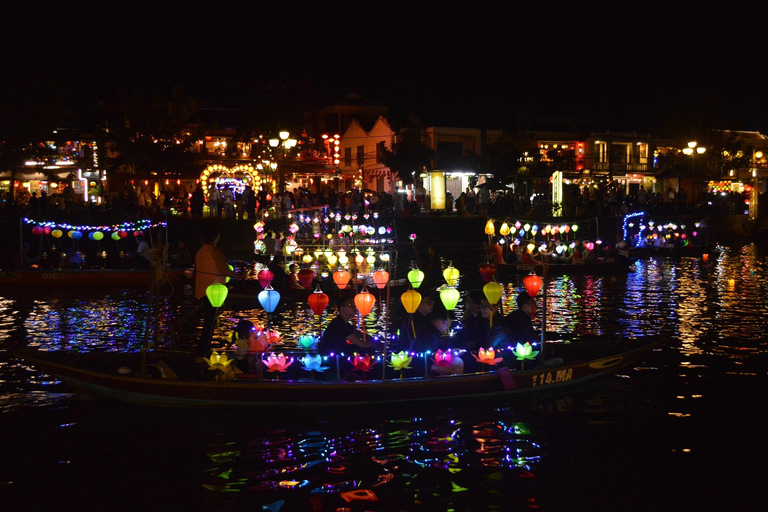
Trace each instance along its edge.
<path fill-rule="evenodd" d="M 9 349 L 134 349 L 153 334 L 147 292 L 0 289 L 0 510 L 762 509 L 768 252 L 728 249 L 550 279 L 550 330 L 670 336 L 635 368 L 558 394 L 379 411 L 83 399 Z M 507 284 L 505 308 L 520 289 Z M 161 318 L 190 308 L 188 289 L 166 291 Z M 224 328 L 266 321 L 256 304 L 225 306 Z M 305 309 L 270 319 L 287 344 Z"/>

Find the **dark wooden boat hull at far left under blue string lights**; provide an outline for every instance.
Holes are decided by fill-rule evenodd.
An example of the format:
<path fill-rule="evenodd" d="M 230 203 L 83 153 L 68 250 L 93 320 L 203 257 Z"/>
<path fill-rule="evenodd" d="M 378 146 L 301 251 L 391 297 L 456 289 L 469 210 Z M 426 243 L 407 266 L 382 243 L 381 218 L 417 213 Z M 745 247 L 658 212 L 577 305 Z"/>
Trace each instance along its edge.
<path fill-rule="evenodd" d="M 154 280 L 168 279 L 180 283 L 183 269 L 26 269 L 16 272 L 0 270 L 0 285 L 10 286 L 148 286 Z"/>

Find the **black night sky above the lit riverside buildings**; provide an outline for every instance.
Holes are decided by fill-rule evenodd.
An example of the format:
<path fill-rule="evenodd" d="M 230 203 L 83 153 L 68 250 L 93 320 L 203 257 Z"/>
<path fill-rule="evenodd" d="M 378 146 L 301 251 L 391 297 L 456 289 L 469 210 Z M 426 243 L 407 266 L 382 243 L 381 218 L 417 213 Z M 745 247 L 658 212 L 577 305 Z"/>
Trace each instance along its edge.
<path fill-rule="evenodd" d="M 760 13 L 738 4 L 235 4 L 17 2 L 4 13 L 4 89 L 24 70 L 73 106 L 182 83 L 205 106 L 239 107 L 304 80 L 320 104 L 355 92 L 438 124 L 546 107 L 768 131 L 768 44 Z"/>

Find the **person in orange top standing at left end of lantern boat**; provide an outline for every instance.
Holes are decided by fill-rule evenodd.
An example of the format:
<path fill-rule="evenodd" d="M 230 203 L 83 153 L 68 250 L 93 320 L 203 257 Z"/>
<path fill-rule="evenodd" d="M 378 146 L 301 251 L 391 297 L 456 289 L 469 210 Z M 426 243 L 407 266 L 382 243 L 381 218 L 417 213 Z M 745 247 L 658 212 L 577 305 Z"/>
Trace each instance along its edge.
<path fill-rule="evenodd" d="M 225 284 L 227 277 L 237 277 L 237 274 L 229 269 L 224 251 L 217 246 L 219 228 L 215 224 L 206 224 L 202 228 L 202 238 L 203 246 L 195 254 L 195 298 L 200 301 L 203 310 L 203 330 L 196 354 L 207 356 L 211 348 L 216 308 L 211 305 L 205 290 L 213 283 Z"/>

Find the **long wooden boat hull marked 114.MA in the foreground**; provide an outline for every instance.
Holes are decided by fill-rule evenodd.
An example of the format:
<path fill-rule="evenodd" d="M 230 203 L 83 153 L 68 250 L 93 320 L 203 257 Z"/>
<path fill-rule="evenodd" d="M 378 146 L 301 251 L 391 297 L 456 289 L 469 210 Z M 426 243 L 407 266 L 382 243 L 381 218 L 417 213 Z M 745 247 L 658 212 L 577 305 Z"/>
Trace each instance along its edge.
<path fill-rule="evenodd" d="M 141 353 L 44 352 L 23 349 L 17 357 L 75 389 L 107 399 L 133 404 L 198 408 L 328 407 L 420 403 L 462 399 L 498 399 L 577 386 L 636 363 L 662 343 L 661 338 L 634 340 L 629 344 L 596 343 L 590 359 L 578 358 L 557 367 L 518 371 L 508 368 L 442 377 L 411 377 L 357 381 L 309 379 L 202 379 L 188 373 L 191 356 L 182 353 L 147 352 L 149 364 L 173 369 L 179 378 L 169 380 L 140 375 Z M 563 344 L 563 355 L 574 351 Z M 577 345 L 577 344 L 573 344 Z M 470 356 L 466 356 L 470 357 Z M 377 363 L 381 364 L 381 363 Z M 199 363 L 198 363 L 199 368 Z M 379 367 L 380 368 L 380 367 Z M 492 367 L 488 367 L 492 368 Z M 130 371 L 130 373 L 129 373 Z M 128 374 L 127 374 L 128 373 Z M 209 375 L 212 372 L 208 372 Z M 306 373 L 306 372 L 305 372 Z M 371 372 L 370 377 L 376 372 Z"/>

